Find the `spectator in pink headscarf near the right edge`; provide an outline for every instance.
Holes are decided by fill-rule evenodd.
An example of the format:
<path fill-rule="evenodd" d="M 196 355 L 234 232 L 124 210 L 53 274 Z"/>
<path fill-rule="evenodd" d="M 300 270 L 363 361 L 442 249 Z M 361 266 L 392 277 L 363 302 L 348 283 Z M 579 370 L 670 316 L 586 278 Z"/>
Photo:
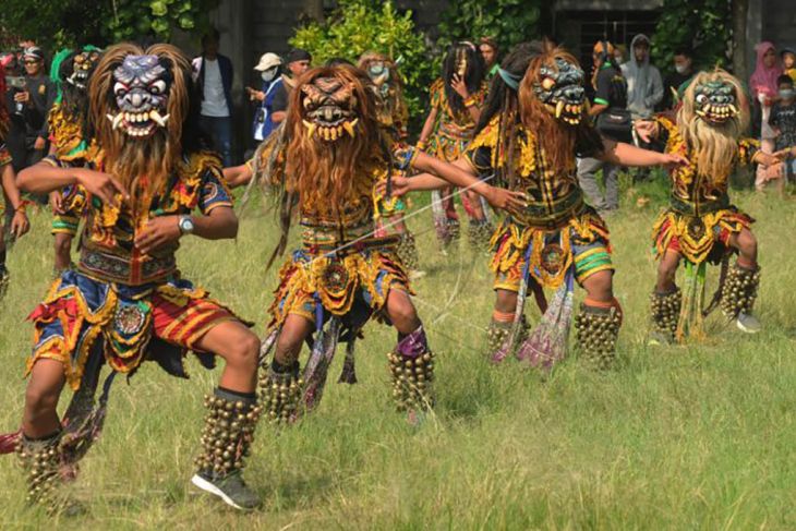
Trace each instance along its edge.
<path fill-rule="evenodd" d="M 779 64 L 776 49 L 769 41 L 762 41 L 755 47 L 757 51 L 757 64 L 755 72 L 749 80 L 755 106 L 759 109 L 760 116 L 760 149 L 763 153 L 774 153 L 774 131 L 769 125 L 771 106 L 776 100 L 776 80 L 782 75 L 782 68 Z M 761 189 L 768 180 L 768 169 L 759 166 L 755 178 L 755 186 Z"/>

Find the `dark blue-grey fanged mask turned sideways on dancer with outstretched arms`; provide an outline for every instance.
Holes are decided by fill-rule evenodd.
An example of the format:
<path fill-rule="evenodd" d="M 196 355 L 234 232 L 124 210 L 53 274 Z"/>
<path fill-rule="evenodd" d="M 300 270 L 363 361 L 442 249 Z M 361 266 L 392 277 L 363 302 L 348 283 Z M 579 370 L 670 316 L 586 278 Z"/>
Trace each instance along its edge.
<path fill-rule="evenodd" d="M 586 106 L 583 71 L 571 62 L 556 58 L 555 68 L 542 65 L 538 81 L 533 82 L 533 92 L 557 120 L 570 125 L 582 120 Z"/>

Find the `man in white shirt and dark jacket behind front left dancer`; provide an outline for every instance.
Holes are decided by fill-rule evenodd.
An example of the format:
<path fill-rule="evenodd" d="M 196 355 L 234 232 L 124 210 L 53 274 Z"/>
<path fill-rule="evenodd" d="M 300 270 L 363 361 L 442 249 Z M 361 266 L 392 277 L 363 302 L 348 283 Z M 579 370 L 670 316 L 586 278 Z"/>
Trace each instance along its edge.
<path fill-rule="evenodd" d="M 202 37 L 202 55 L 193 60 L 202 94 L 201 128 L 213 137 L 224 166 L 232 166 L 232 61 L 218 52 L 218 31 Z"/>

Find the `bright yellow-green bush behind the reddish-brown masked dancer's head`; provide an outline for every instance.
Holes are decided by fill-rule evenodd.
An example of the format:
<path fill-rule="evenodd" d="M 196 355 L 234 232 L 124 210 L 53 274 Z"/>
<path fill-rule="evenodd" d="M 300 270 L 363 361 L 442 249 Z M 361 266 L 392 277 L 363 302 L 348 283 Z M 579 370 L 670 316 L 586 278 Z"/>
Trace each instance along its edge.
<path fill-rule="evenodd" d="M 411 16 L 409 11 L 398 13 L 391 1 L 342 0 L 324 23 L 298 28 L 290 45 L 312 53 L 315 64 L 337 57 L 355 64 L 365 51 L 400 60 L 409 116 L 419 120 L 425 112 L 433 65 L 424 36 L 414 28 Z"/>

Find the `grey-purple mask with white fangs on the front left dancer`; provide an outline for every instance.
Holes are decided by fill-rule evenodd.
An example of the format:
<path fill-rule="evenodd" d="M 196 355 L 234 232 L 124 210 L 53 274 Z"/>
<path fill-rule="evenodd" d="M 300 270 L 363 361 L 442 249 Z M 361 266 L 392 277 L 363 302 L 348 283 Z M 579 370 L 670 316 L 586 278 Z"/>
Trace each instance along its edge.
<path fill-rule="evenodd" d="M 119 112 L 108 114 L 113 129 L 128 136 L 147 137 L 169 119 L 167 71 L 157 56 L 128 56 L 113 71 L 113 96 Z"/>

